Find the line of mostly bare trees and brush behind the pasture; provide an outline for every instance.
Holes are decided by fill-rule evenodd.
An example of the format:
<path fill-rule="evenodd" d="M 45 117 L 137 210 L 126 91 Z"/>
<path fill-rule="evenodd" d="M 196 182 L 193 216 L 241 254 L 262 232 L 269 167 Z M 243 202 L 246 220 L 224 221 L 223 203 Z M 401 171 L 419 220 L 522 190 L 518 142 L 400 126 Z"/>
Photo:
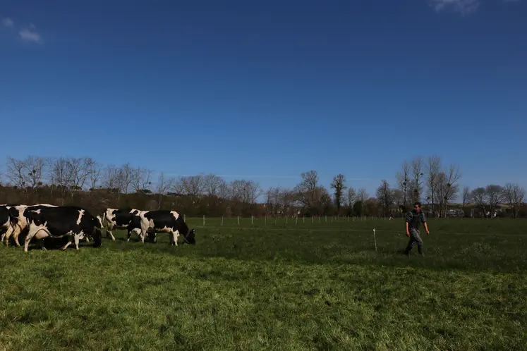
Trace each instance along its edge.
<path fill-rule="evenodd" d="M 178 209 L 187 216 L 403 216 L 420 201 L 432 216 L 452 211 L 469 216 L 527 216 L 525 190 L 518 184 L 461 189 L 459 166 L 444 166 L 440 156 L 403 161 L 394 187 L 381 180 L 374 196 L 334 176 L 329 187 L 317 171 L 301 173 L 294 187 L 263 190 L 253 180 L 227 182 L 214 174 L 167 177 L 131 164 L 103 165 L 91 157 L 25 159 L 8 157 L 0 175 L 0 202 L 78 204 L 91 211 L 107 207 Z M 263 202 L 258 202 L 260 197 Z M 505 205 L 505 206 L 504 206 Z"/>

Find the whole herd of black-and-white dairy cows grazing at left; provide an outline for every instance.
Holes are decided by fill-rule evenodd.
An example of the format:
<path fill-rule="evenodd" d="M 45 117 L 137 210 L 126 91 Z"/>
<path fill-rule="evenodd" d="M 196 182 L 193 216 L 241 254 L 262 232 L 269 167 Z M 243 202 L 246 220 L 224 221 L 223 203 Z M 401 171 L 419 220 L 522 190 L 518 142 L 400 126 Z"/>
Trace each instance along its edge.
<path fill-rule="evenodd" d="M 189 229 L 183 217 L 176 211 L 157 210 L 140 211 L 138 209 L 106 209 L 102 216 L 93 216 L 89 211 L 77 206 L 55 206 L 52 204 L 2 204 L 0 205 L 1 240 L 8 245 L 12 238 L 18 247 L 18 237 L 25 233 L 24 251 L 32 239 L 37 240 L 42 249 L 44 241 L 66 238 L 68 242 L 62 250 L 71 245 L 72 240 L 78 250 L 80 240 L 94 241 L 93 246 L 102 243 L 102 230 L 107 237 L 115 241 L 111 230 L 128 230 L 128 241 L 131 233 L 136 233 L 141 242 L 148 235 L 156 242 L 156 233 L 169 233 L 171 245 L 178 245 L 178 236 L 183 235 L 184 242 L 195 244 L 194 229 Z"/>

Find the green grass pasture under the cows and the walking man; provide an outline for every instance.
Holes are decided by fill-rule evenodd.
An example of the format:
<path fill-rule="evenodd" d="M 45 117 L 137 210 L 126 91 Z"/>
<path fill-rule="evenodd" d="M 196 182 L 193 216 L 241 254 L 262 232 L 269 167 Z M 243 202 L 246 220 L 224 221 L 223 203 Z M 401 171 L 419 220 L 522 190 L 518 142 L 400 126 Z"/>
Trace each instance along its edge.
<path fill-rule="evenodd" d="M 0 349 L 527 350 L 527 221 L 430 219 L 425 257 L 401 218 L 187 222 L 195 246 L 0 247 Z"/>

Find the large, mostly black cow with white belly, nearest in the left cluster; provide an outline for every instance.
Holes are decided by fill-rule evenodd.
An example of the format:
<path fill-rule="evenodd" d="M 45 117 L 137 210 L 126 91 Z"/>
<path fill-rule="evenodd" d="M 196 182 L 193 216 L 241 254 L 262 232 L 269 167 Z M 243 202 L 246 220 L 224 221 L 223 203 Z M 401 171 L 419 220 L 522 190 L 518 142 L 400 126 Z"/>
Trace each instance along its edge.
<path fill-rule="evenodd" d="M 29 224 L 29 233 L 25 238 L 24 252 L 28 252 L 28 245 L 32 238 L 63 238 L 70 240 L 62 250 L 71 244 L 71 237 L 75 242 L 75 249 L 79 250 L 79 240 L 91 236 L 94 247 L 101 246 L 102 223 L 99 218 L 77 206 L 28 208 L 24 216 Z"/>

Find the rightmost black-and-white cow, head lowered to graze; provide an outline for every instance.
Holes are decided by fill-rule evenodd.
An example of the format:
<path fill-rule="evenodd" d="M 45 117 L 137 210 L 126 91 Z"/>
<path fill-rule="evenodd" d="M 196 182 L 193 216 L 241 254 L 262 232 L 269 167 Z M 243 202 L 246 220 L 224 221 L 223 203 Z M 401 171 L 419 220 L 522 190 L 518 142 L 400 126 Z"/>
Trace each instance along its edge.
<path fill-rule="evenodd" d="M 170 233 L 171 245 L 178 246 L 178 236 L 183 234 L 183 238 L 189 244 L 195 245 L 194 229 L 189 230 L 183 217 L 176 211 L 157 210 L 157 211 L 140 211 L 141 218 L 141 241 L 145 242 L 147 232 L 153 232 L 155 242 L 155 233 Z"/>

